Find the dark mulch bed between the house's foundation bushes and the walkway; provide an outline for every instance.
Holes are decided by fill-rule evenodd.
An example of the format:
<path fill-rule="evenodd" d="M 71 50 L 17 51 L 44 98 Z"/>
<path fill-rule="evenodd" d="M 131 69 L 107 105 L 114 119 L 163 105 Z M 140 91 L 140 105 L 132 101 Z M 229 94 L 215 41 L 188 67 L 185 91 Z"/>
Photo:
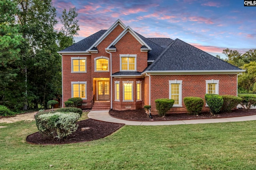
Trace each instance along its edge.
<path fill-rule="evenodd" d="M 144 109 L 137 110 L 126 110 L 126 111 L 116 111 L 111 110 L 109 114 L 112 117 L 116 117 L 124 120 L 131 121 L 151 121 L 147 116 Z M 229 113 L 219 113 L 215 115 L 210 115 L 210 112 L 202 112 L 199 115 L 189 115 L 188 113 L 170 113 L 166 114 L 165 117 L 160 117 L 159 115 L 152 115 L 154 121 L 170 121 L 170 120 L 189 120 L 189 119 L 214 119 L 214 118 L 226 118 L 226 117 L 239 117 L 246 115 L 256 115 L 256 109 L 244 110 L 244 109 L 234 109 Z"/>

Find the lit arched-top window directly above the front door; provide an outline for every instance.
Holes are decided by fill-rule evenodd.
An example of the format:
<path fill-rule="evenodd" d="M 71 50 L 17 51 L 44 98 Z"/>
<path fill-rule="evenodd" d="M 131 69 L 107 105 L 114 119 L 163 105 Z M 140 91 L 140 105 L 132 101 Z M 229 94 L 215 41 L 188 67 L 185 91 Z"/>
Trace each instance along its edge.
<path fill-rule="evenodd" d="M 109 72 L 109 59 L 108 57 L 96 57 L 94 59 L 95 72 Z"/>

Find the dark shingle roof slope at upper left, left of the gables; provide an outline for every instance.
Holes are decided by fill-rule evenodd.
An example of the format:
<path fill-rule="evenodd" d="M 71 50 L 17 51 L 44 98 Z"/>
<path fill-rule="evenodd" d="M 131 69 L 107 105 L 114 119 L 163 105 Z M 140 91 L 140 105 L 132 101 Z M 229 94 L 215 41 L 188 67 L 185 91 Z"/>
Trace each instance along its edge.
<path fill-rule="evenodd" d="M 85 39 L 67 47 L 62 51 L 86 51 L 88 50 L 107 30 L 100 30 Z"/>

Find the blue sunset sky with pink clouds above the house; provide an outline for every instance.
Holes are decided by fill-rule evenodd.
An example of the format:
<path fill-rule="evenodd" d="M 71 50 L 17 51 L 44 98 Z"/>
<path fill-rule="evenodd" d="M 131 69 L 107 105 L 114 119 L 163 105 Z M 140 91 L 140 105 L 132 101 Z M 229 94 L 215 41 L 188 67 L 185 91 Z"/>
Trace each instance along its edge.
<path fill-rule="evenodd" d="M 220 55 L 229 48 L 245 53 L 256 49 L 256 6 L 242 0 L 52 0 L 62 10 L 79 13 L 78 42 L 120 19 L 146 38 L 167 37 Z M 60 23 L 56 26 L 61 28 Z"/>

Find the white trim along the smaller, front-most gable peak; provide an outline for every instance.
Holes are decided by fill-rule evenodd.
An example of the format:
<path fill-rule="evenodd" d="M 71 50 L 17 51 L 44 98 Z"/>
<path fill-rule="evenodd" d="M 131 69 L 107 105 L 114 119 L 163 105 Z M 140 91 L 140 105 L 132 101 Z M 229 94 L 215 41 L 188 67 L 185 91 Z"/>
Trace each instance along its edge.
<path fill-rule="evenodd" d="M 120 33 L 118 35 L 118 37 L 116 37 L 116 39 L 107 47 L 107 49 L 109 49 L 112 45 L 116 45 L 116 43 L 122 39 L 122 37 L 124 37 L 124 35 L 126 33 L 130 32 L 132 34 L 132 36 L 141 44 L 141 45 L 145 45 L 147 47 L 147 49 L 141 49 L 141 52 L 144 51 L 150 51 L 151 48 L 129 27 L 127 26 L 124 31 L 122 31 L 122 33 Z"/>

